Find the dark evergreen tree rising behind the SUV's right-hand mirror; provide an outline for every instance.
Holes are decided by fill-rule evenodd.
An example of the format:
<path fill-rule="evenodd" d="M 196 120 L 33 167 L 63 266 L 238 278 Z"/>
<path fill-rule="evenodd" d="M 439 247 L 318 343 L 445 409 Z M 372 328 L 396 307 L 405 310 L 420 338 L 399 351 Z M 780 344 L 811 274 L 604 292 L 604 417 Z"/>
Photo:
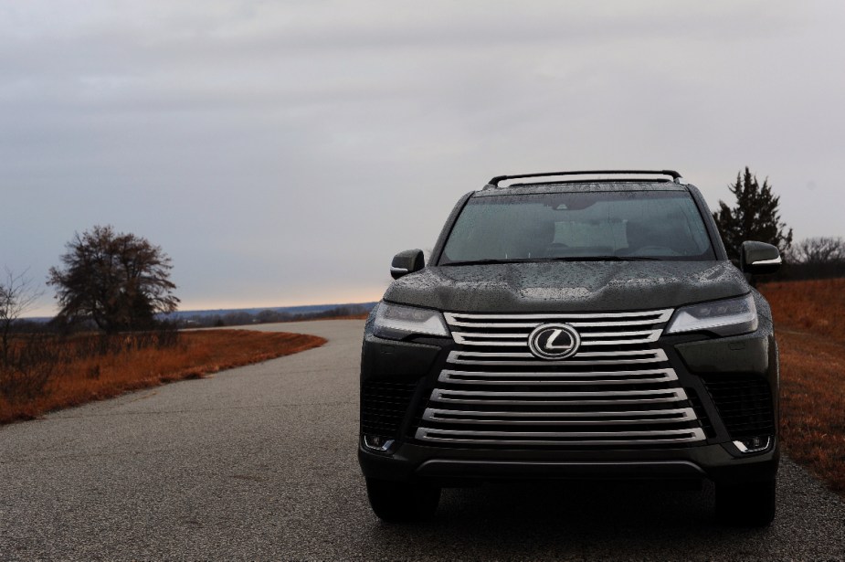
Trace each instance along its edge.
<path fill-rule="evenodd" d="M 792 245 L 792 228 L 787 230 L 787 225 L 780 222 L 780 197 L 772 193 L 768 178 L 761 186 L 745 166 L 745 174 L 738 173 L 736 183 L 728 188 L 736 197 L 736 207 L 719 201 L 719 210 L 713 213 L 728 258 L 738 260 L 740 246 L 746 240 L 772 244 L 785 254 Z"/>

